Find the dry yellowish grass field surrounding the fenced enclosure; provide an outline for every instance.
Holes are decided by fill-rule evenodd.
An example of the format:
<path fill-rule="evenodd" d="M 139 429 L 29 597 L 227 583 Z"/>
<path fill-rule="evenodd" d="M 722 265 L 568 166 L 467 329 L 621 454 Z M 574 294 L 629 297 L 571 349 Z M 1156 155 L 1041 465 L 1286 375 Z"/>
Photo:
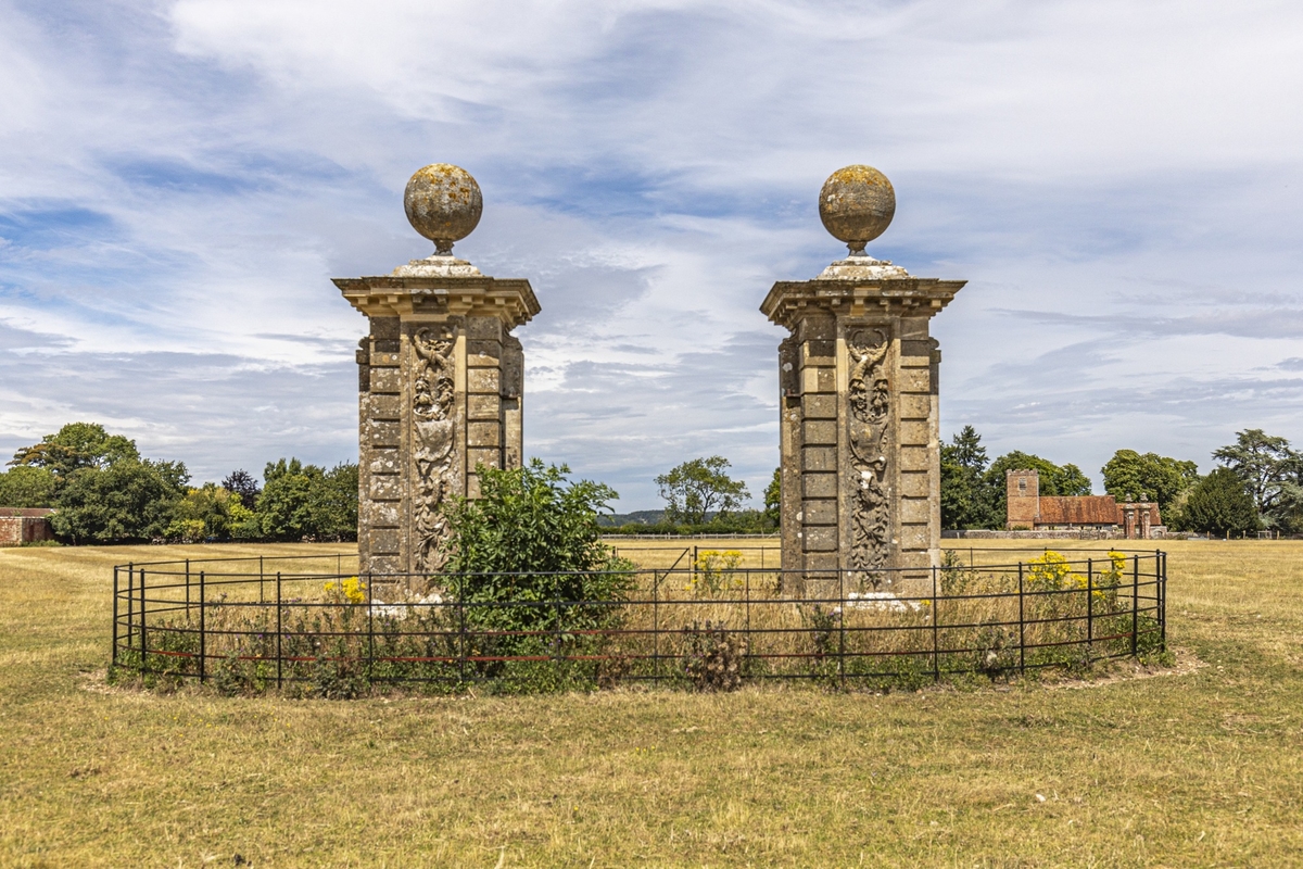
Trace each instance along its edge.
<path fill-rule="evenodd" d="M 0 865 L 1303 865 L 1303 545 L 1165 548 L 1175 675 L 353 702 L 103 684 L 113 563 L 341 547 L 0 550 Z"/>

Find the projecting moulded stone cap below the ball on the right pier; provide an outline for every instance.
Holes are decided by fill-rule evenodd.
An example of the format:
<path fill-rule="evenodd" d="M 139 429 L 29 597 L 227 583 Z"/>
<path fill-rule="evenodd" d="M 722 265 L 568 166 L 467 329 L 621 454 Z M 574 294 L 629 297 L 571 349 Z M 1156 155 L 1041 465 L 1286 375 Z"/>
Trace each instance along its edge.
<path fill-rule="evenodd" d="M 833 263 L 830 268 L 837 264 Z M 932 317 L 949 305 L 967 283 L 938 278 L 820 276 L 814 280 L 780 280 L 765 296 L 760 310 L 771 322 L 788 328 L 800 317 L 812 313 L 810 309 L 856 318 L 874 314 Z"/>

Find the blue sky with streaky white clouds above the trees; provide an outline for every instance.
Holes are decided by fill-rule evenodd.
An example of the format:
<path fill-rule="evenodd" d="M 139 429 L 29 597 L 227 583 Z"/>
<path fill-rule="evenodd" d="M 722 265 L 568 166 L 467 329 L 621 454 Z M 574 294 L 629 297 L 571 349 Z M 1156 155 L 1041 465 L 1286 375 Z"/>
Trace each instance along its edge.
<path fill-rule="evenodd" d="M 1303 443 L 1303 5 L 0 0 L 0 457 L 73 421 L 197 481 L 357 457 L 365 318 L 331 278 L 431 253 L 427 163 L 483 190 L 456 253 L 528 278 L 525 452 L 653 478 L 778 463 L 758 306 L 844 248 L 966 279 L 942 433 L 992 457 Z"/>

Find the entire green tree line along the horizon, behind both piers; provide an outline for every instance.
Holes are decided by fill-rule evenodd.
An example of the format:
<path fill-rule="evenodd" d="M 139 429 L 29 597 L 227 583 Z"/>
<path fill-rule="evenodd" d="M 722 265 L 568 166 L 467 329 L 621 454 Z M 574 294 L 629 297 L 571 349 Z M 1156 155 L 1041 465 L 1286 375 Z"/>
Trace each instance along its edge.
<path fill-rule="evenodd" d="M 1118 449 L 1101 468 L 1104 490 L 1119 500 L 1158 504 L 1173 530 L 1303 533 L 1303 452 L 1261 429 L 1237 433 L 1213 451 L 1218 466 L 1200 476 L 1194 461 Z M 102 425 L 73 422 L 23 447 L 0 473 L 0 506 L 53 507 L 56 535 L 69 543 L 141 541 L 301 541 L 357 538 L 357 464 L 326 469 L 298 459 L 267 463 L 262 485 L 233 470 L 220 483 L 190 485 L 184 463 L 142 457 L 134 440 Z M 692 459 L 655 478 L 666 503 L 657 522 L 611 526 L 618 533 L 771 533 L 779 525 L 779 469 L 764 508 L 747 508 L 747 483 L 722 456 Z M 1037 470 L 1042 495 L 1089 495 L 1074 464 L 1012 451 L 988 459 L 981 435 L 964 426 L 941 448 L 941 519 L 946 529 L 1001 529 L 1006 472 Z"/>

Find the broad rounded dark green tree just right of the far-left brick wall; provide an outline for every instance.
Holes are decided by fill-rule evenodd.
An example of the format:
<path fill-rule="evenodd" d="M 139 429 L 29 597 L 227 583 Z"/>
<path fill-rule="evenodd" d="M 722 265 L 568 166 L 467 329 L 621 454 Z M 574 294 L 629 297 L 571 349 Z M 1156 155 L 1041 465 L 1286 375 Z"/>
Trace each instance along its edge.
<path fill-rule="evenodd" d="M 189 474 L 172 461 L 119 459 L 74 470 L 51 517 L 73 543 L 117 543 L 163 537 Z"/>

